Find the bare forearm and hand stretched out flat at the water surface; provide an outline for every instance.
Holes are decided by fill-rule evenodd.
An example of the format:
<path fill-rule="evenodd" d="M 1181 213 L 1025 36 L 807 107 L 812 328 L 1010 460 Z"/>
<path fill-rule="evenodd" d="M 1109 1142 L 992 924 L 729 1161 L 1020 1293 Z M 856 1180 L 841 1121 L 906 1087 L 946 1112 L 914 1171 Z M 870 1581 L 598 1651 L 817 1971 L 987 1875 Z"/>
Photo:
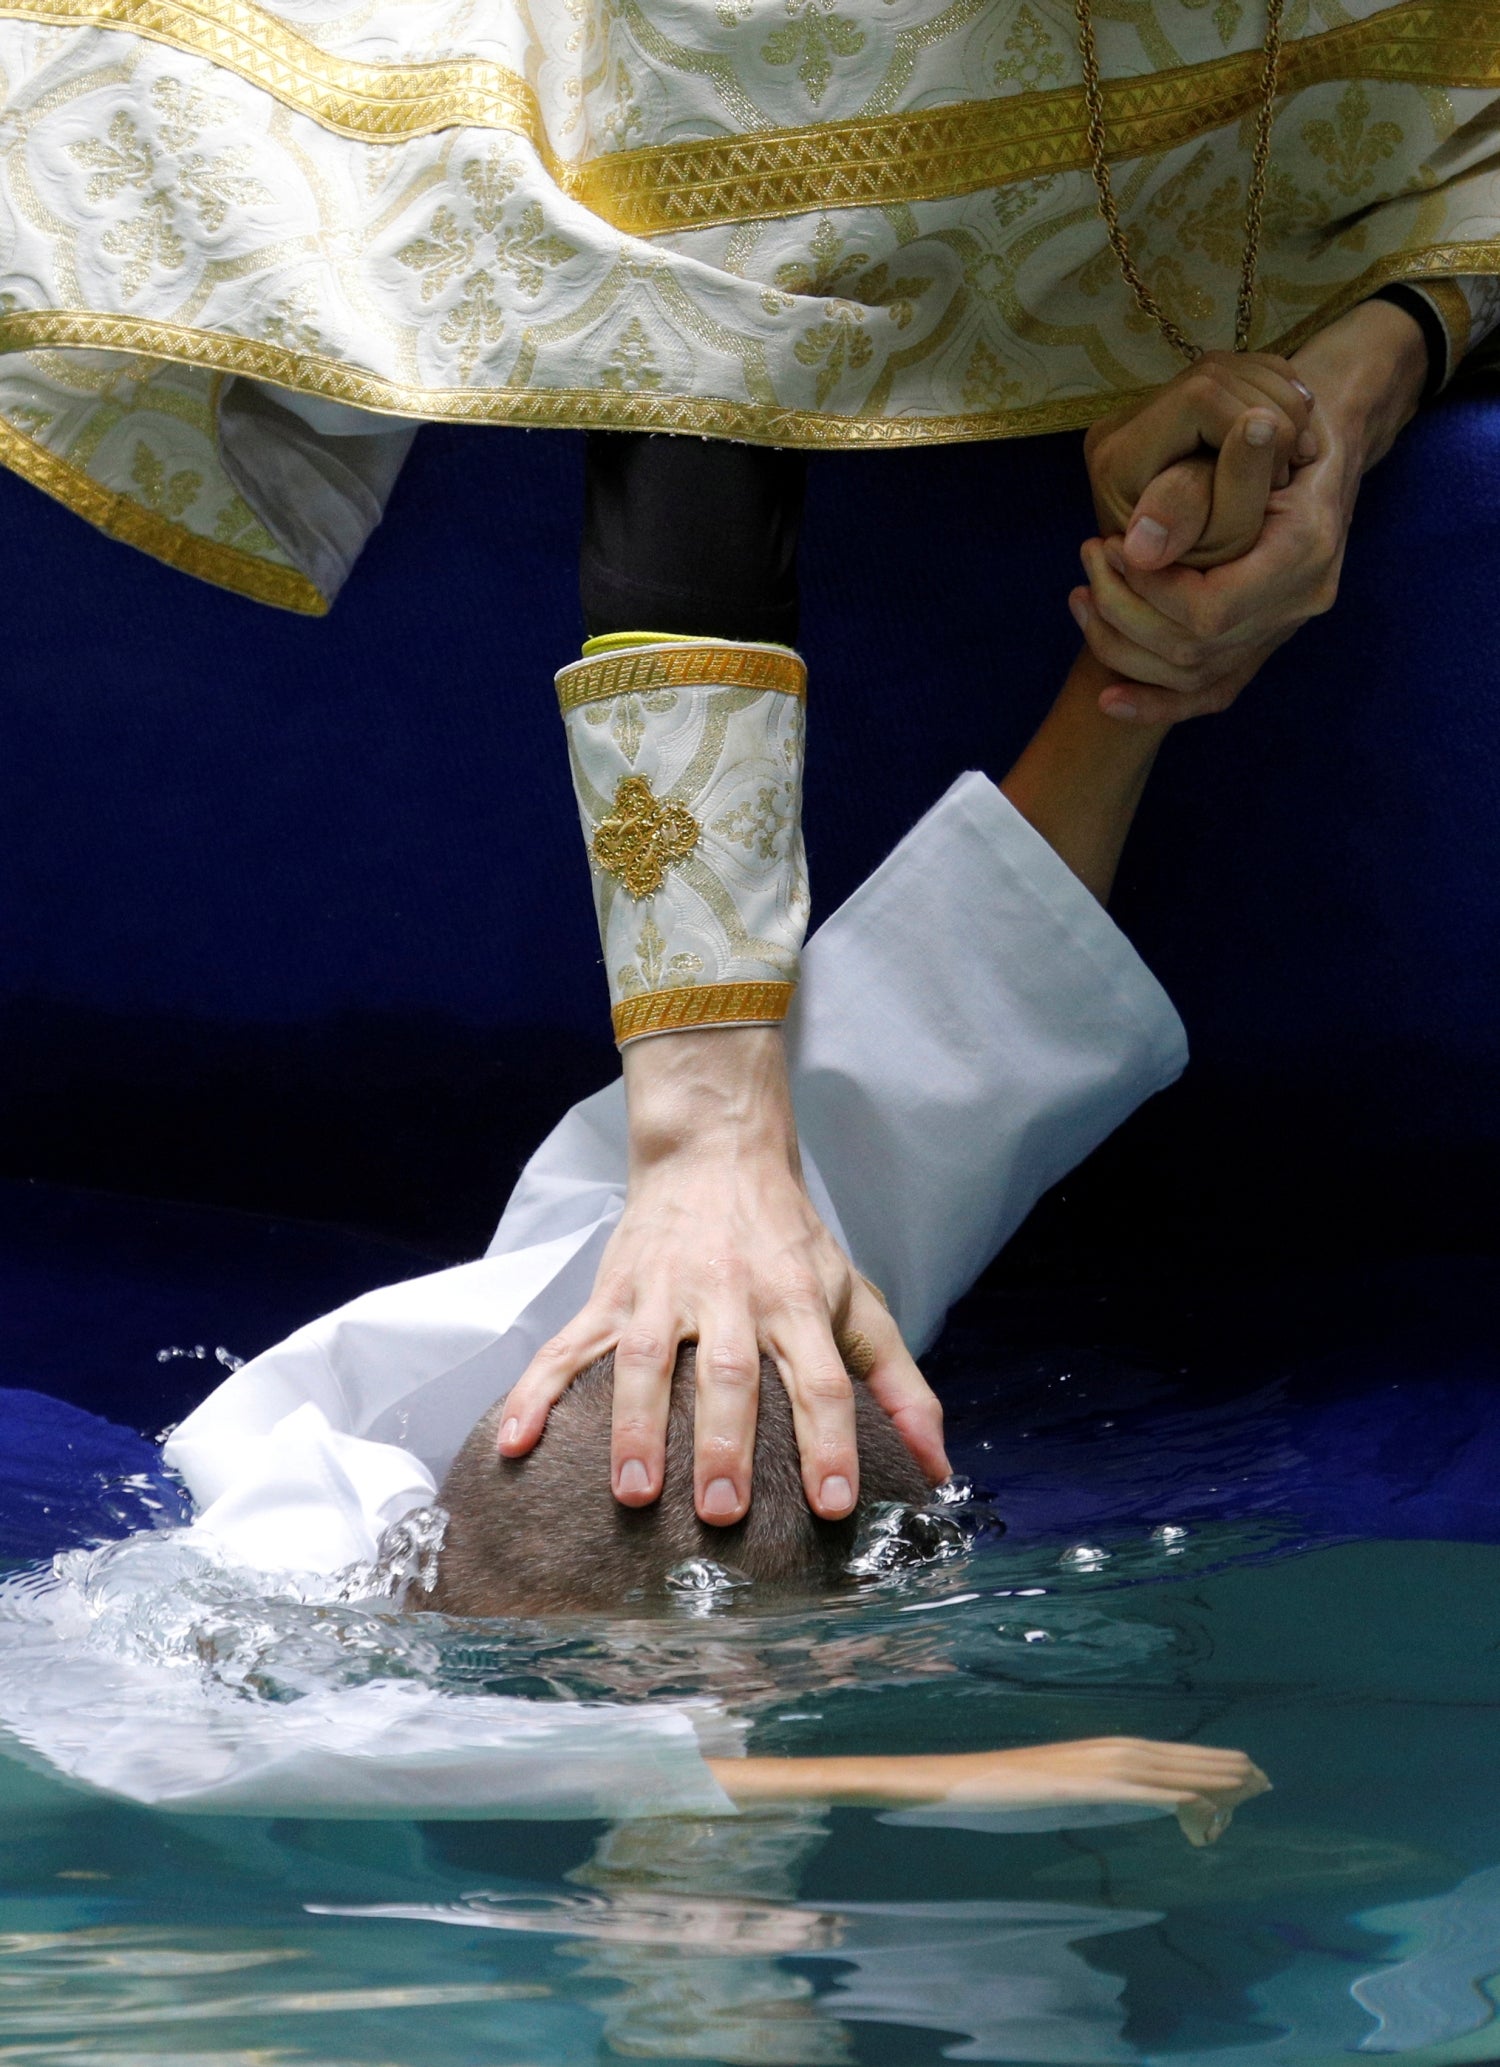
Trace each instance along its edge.
<path fill-rule="evenodd" d="M 1140 1802 L 1171 1809 L 1190 1844 L 1213 1844 L 1233 1811 L 1271 1782 L 1242 1751 L 1091 1736 L 1070 1745 L 874 1759 L 709 1759 L 736 1802 L 845 1807 L 1050 1809 Z"/>

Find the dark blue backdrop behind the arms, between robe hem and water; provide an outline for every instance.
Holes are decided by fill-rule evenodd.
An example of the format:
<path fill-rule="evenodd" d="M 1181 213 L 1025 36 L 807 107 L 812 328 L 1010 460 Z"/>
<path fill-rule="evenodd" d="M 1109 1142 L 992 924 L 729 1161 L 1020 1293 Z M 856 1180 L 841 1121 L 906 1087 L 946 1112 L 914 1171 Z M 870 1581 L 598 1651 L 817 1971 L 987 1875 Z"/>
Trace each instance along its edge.
<path fill-rule="evenodd" d="M 473 1253 L 614 1069 L 550 676 L 581 446 L 428 430 L 333 616 L 0 480 L 0 1174 Z M 812 469 L 808 843 L 826 912 L 1074 645 L 1074 438 Z M 1496 1246 L 1500 401 L 1368 482 L 1337 610 L 1167 746 L 1118 916 L 1188 1081 L 1010 1269 Z"/>

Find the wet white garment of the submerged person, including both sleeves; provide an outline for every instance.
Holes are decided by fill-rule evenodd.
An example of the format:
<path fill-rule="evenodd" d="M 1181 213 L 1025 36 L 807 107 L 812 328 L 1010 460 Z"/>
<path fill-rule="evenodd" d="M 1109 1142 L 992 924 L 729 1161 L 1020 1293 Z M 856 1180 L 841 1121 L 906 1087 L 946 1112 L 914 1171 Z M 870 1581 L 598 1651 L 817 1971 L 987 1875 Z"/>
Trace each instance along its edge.
<path fill-rule="evenodd" d="M 965 775 L 808 943 L 791 1052 L 812 1197 L 921 1350 L 1045 1186 L 1180 1073 L 1186 1042 L 1105 912 Z M 165 1449 L 200 1507 L 182 1554 L 337 1598 L 339 1569 L 434 1499 L 479 1414 L 585 1302 L 624 1176 L 614 1083 L 533 1155 L 479 1263 L 370 1292 L 233 1372 Z M 52 1590 L 0 1590 L 0 1745 L 110 1794 L 355 1817 L 729 1807 L 702 1751 L 738 1728 L 705 1703 L 399 1678 L 231 1697 L 192 1643 L 132 1654 L 130 1616 L 99 1616 L 93 1583 L 74 1554 Z"/>

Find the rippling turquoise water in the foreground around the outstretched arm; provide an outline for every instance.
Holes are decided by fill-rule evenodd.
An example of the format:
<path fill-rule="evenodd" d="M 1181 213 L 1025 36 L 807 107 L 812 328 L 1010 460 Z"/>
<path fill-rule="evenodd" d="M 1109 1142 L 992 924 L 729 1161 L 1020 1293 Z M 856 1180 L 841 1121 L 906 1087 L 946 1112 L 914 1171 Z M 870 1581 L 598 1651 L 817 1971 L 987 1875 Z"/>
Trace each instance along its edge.
<path fill-rule="evenodd" d="M 1171 1821 L 994 1835 L 868 1811 L 169 1817 L 0 1761 L 0 2063 L 1500 2057 L 1500 1548 L 1308 1550 L 1227 1521 L 1089 1548 L 1110 1554 L 1000 1540 L 771 1616 L 736 1596 L 455 1633 L 426 1670 L 711 1689 L 756 1716 L 756 1751 L 1236 1745 L 1275 1790 L 1211 1850 Z M 306 1625 L 258 1641 L 271 1695 L 287 1658 L 411 1658 L 366 1610 L 312 1654 Z"/>

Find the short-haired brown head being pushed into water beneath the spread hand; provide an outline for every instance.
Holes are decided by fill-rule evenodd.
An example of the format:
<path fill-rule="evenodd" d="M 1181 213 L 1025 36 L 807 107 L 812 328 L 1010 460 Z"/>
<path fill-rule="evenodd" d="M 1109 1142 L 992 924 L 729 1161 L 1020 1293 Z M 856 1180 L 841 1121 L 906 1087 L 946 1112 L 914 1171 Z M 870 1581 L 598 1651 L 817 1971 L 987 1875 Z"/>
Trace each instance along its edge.
<path fill-rule="evenodd" d="M 661 1499 L 620 1507 L 610 1490 L 614 1358 L 591 1364 L 558 1399 L 527 1457 L 502 1457 L 504 1401 L 475 1424 L 442 1482 L 448 1530 L 426 1606 L 442 1614 L 576 1614 L 659 1598 L 674 1567 L 711 1559 L 771 1585 L 826 1585 L 853 1552 L 860 1523 L 886 1501 L 924 1505 L 930 1488 L 882 1410 L 855 1385 L 860 1505 L 822 1521 L 802 1490 L 791 1403 L 769 1358 L 750 1511 L 733 1528 L 698 1521 L 692 1505 L 692 1344 L 678 1354 Z"/>

